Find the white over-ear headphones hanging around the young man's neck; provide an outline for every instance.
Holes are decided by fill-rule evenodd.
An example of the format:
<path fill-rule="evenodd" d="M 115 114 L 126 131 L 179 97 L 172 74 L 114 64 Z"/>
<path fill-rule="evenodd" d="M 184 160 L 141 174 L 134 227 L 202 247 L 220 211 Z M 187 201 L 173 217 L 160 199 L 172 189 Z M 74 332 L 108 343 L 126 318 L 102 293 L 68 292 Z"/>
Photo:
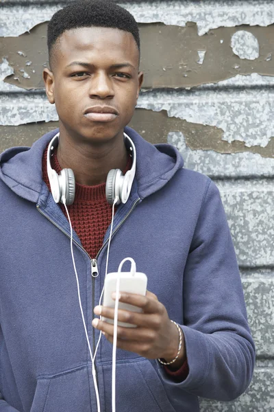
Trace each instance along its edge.
<path fill-rule="evenodd" d="M 55 203 L 64 203 L 72 205 L 75 198 L 75 177 L 72 169 L 62 169 L 60 174 L 51 168 L 51 156 L 59 143 L 59 135 L 57 133 L 49 143 L 47 149 L 47 175 L 49 176 L 49 184 L 51 185 L 51 193 Z M 105 197 L 108 203 L 112 205 L 115 198 L 116 205 L 126 203 L 132 190 L 132 183 L 136 172 L 136 148 L 132 139 L 124 133 L 125 147 L 132 155 L 132 168 L 123 175 L 120 169 L 112 169 L 108 172 L 107 181 L 105 183 Z"/>

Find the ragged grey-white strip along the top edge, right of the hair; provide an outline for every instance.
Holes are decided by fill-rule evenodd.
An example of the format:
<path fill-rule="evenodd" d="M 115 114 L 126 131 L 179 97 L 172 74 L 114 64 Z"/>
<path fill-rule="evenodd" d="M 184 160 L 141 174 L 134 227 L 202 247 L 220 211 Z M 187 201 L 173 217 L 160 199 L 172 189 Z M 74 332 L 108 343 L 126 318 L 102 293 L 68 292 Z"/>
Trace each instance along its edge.
<path fill-rule="evenodd" d="M 241 1 L 155 1 L 146 3 L 143 8 L 127 1 L 122 4 L 134 14 L 137 21 L 151 23 L 162 21 L 165 24 L 186 26 L 189 21 L 197 23 L 199 36 L 217 27 L 237 25 L 267 26 L 274 23 L 272 0 Z"/>

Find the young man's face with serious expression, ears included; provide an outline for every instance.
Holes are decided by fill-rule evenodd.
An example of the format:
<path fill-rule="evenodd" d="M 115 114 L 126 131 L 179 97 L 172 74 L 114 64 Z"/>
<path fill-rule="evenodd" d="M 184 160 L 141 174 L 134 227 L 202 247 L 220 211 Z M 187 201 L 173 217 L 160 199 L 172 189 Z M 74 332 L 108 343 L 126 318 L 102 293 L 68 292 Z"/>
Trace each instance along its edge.
<path fill-rule="evenodd" d="M 92 143 L 122 136 L 134 114 L 143 77 L 138 73 L 134 36 L 105 27 L 67 30 L 53 56 L 52 71 L 44 69 L 43 78 L 66 133 Z M 112 108 L 114 113 L 86 115 L 89 108 L 98 111 L 95 106 Z"/>

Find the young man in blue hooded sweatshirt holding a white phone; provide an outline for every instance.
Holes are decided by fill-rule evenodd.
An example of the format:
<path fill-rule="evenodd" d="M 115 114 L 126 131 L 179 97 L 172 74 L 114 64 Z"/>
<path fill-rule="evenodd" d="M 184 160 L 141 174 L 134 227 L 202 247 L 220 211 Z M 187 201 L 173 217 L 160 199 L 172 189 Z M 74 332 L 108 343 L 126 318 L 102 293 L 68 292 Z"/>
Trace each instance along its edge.
<path fill-rule="evenodd" d="M 112 207 L 108 272 L 129 256 L 148 277 L 145 297 L 120 297 L 142 312 L 119 310 L 137 327 L 118 328 L 118 411 L 197 412 L 198 396 L 236 398 L 255 350 L 225 212 L 175 148 L 127 127 L 143 80 L 136 21 L 112 1 L 78 1 L 53 15 L 48 47 L 59 129 L 0 157 L 0 412 L 97 411 L 69 216 L 93 353 L 104 334 L 101 411 L 111 410 L 113 325 L 97 316 L 114 317 L 98 306 Z"/>

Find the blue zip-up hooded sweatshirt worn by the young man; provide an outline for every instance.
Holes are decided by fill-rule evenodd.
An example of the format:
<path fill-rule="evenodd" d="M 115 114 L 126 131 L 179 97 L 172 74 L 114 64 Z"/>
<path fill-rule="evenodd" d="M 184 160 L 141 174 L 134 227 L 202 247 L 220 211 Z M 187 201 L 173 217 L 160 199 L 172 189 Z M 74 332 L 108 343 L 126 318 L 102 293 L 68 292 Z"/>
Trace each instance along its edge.
<path fill-rule="evenodd" d="M 47 133 L 32 148 L 0 157 L 0 412 L 96 412 L 91 361 L 79 310 L 69 222 L 42 180 Z M 219 191 L 183 168 L 168 144 L 136 146 L 129 200 L 117 208 L 109 272 L 128 256 L 147 274 L 148 290 L 179 323 L 188 377 L 175 382 L 156 360 L 117 350 L 119 412 L 197 412 L 198 396 L 232 400 L 249 385 L 255 350 L 232 238 Z M 110 228 L 97 255 L 99 276 L 73 233 L 82 305 L 92 328 L 105 275 Z M 123 270 L 126 270 L 126 265 Z M 96 358 L 101 411 L 111 411 L 112 345 Z"/>

